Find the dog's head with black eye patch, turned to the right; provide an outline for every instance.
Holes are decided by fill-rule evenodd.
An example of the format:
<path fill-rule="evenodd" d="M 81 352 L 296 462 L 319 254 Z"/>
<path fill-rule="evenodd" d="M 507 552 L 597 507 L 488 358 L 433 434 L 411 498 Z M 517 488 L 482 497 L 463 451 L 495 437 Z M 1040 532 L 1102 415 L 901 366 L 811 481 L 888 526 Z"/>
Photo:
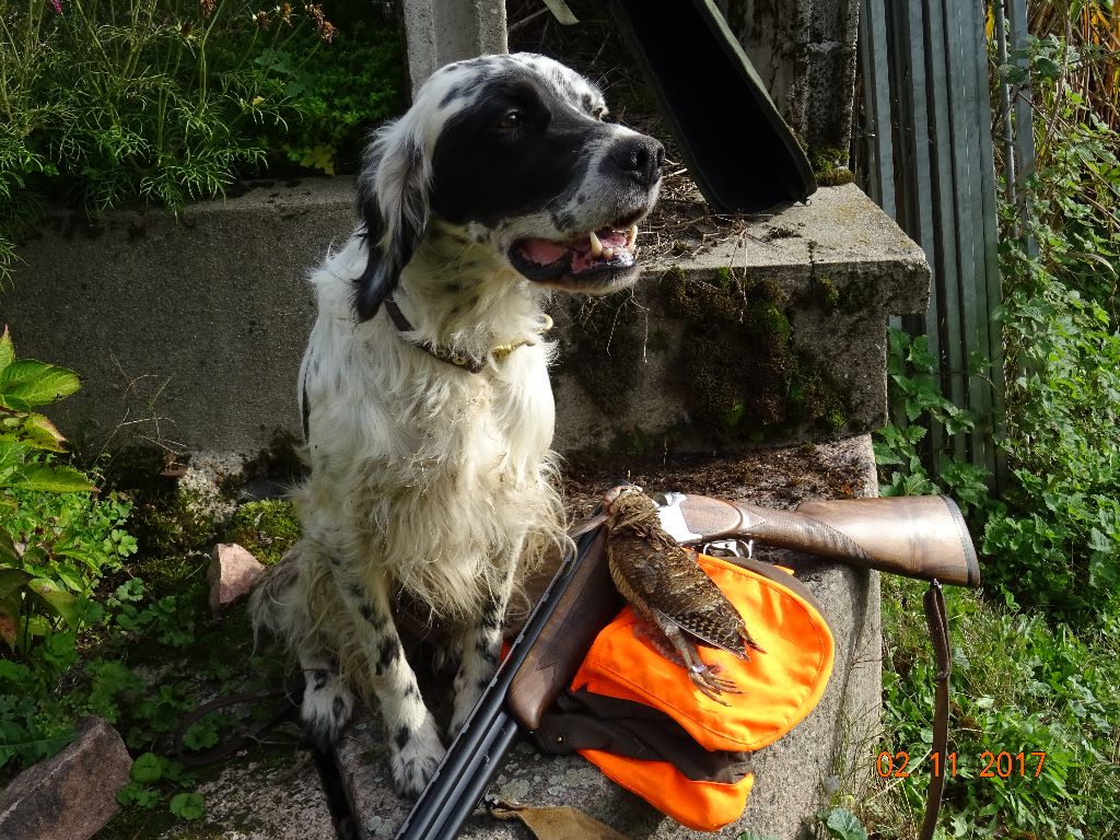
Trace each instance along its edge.
<path fill-rule="evenodd" d="M 594 84 L 544 56 L 437 71 L 366 152 L 360 317 L 376 314 L 437 220 L 532 283 L 585 293 L 632 283 L 636 223 L 656 200 L 664 149 L 605 115 Z"/>

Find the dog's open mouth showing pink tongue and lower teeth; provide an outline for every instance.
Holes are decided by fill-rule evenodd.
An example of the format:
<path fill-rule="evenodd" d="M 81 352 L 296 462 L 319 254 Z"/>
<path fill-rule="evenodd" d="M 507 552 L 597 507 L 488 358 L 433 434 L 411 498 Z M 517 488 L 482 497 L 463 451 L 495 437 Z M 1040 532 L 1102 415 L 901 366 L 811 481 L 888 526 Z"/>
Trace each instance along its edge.
<path fill-rule="evenodd" d="M 510 261 L 530 280 L 590 280 L 633 269 L 636 243 L 637 225 L 610 225 L 566 242 L 520 240 L 510 249 Z"/>

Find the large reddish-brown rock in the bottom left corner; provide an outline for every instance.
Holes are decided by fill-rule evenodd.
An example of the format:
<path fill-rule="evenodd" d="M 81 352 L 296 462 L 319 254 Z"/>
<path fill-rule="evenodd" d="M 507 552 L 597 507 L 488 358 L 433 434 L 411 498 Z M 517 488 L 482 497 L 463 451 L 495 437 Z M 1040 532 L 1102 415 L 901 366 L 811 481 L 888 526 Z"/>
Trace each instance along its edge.
<path fill-rule="evenodd" d="M 131 772 L 116 730 L 101 718 L 85 718 L 73 744 L 0 793 L 0 838 L 87 840 L 116 813 L 116 792 Z"/>

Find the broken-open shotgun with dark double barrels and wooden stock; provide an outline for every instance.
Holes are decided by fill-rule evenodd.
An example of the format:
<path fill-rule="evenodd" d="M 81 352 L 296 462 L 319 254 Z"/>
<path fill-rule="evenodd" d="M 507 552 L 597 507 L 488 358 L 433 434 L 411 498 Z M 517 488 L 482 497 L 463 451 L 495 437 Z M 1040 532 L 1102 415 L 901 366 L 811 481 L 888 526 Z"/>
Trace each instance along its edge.
<path fill-rule="evenodd" d="M 964 520 L 944 496 L 804 502 L 778 511 L 706 496 L 666 494 L 662 524 L 682 543 L 758 540 L 780 548 L 926 580 L 978 586 L 976 551 Z M 585 523 L 521 634 L 396 840 L 452 840 L 497 774 L 519 729 L 571 682 L 599 631 L 622 607 L 606 562 L 606 534 Z"/>

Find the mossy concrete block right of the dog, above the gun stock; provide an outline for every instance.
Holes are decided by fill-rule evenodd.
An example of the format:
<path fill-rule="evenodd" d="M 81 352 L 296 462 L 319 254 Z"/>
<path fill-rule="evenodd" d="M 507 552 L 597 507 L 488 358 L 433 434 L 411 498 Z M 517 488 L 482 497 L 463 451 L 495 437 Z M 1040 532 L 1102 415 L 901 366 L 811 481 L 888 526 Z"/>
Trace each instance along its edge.
<path fill-rule="evenodd" d="M 713 451 L 836 439 L 886 424 L 887 319 L 925 311 L 930 268 L 922 250 L 858 187 L 820 189 L 804 205 L 709 237 L 687 258 L 657 253 L 644 259 L 643 279 L 631 292 L 556 300 L 557 449 Z M 666 281 L 743 293 L 739 320 L 729 324 L 716 311 L 703 320 L 685 317 Z M 792 353 L 836 394 L 842 407 L 836 420 L 778 417 L 745 435 L 713 432 L 688 393 L 690 345 L 736 340 L 736 330 L 749 330 L 745 290 L 752 287 L 765 287 L 788 324 Z M 767 382 L 765 365 L 747 370 L 752 364 L 732 358 L 726 365 L 729 379 L 746 380 L 738 388 L 748 414 L 775 386 L 784 400 L 787 384 Z"/>

